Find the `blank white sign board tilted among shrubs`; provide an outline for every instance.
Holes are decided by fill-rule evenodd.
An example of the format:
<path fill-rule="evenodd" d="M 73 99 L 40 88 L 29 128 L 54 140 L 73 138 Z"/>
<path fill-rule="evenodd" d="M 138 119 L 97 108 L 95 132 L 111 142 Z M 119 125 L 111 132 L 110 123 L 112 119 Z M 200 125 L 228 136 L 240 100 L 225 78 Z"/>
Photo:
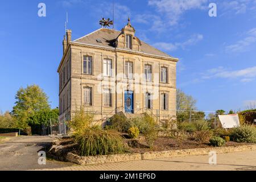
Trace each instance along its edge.
<path fill-rule="evenodd" d="M 221 125 L 224 129 L 240 126 L 238 114 L 218 115 L 218 118 L 220 118 Z"/>

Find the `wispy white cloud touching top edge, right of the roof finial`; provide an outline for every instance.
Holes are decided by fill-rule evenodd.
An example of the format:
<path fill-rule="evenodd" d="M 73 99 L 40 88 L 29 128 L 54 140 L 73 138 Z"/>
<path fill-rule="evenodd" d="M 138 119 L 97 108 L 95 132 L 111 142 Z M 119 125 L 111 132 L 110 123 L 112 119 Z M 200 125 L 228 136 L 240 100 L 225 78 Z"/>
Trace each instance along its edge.
<path fill-rule="evenodd" d="M 156 7 L 160 14 L 173 26 L 178 23 L 180 16 L 187 10 L 204 9 L 207 0 L 149 0 L 148 5 Z"/>

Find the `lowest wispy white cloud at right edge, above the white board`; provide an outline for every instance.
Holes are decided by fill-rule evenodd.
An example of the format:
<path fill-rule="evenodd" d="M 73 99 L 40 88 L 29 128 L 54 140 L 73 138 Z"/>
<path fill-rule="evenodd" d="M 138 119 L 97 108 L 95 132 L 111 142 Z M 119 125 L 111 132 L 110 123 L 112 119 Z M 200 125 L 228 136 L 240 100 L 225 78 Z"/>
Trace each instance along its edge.
<path fill-rule="evenodd" d="M 209 69 L 207 73 L 202 74 L 203 79 L 210 78 L 238 78 L 241 82 L 250 82 L 256 78 L 256 67 L 228 71 L 223 67 Z"/>

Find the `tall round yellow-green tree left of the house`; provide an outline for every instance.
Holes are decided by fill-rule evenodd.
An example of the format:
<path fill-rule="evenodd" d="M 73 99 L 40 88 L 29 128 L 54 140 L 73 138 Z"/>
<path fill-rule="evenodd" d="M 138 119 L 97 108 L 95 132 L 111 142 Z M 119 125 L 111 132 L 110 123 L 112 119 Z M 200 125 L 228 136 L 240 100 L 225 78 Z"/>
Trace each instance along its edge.
<path fill-rule="evenodd" d="M 49 110 L 49 102 L 46 93 L 38 85 L 30 85 L 20 88 L 15 96 L 16 102 L 12 114 L 16 117 L 18 125 L 26 129 L 30 124 L 30 118 L 37 112 Z"/>

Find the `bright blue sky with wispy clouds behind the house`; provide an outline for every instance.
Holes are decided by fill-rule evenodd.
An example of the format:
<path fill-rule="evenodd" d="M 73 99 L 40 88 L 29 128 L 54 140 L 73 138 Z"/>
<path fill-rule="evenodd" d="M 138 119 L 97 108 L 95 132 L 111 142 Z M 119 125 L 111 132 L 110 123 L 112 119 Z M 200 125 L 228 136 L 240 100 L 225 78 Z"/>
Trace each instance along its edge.
<path fill-rule="evenodd" d="M 46 17 L 38 4 L 46 3 Z M 208 15 L 209 3 L 217 17 Z M 180 59 L 177 88 L 199 110 L 256 105 L 256 0 L 115 0 L 115 29 L 130 16 L 138 38 Z M 0 6 L 0 110 L 11 110 L 20 86 L 38 84 L 58 106 L 57 67 L 65 13 L 75 40 L 112 18 L 112 0 L 20 0 Z"/>

